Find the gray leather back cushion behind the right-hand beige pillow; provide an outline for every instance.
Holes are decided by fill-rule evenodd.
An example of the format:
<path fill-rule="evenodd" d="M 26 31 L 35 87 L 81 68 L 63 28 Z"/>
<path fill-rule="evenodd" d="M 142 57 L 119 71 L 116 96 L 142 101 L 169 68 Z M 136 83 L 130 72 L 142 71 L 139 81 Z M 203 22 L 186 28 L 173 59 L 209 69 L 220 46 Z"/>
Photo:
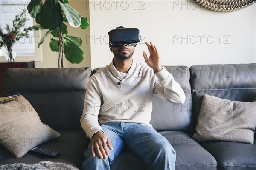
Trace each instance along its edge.
<path fill-rule="evenodd" d="M 196 125 L 204 94 L 231 101 L 253 101 L 256 96 L 256 63 L 191 66 L 190 85 Z"/>

